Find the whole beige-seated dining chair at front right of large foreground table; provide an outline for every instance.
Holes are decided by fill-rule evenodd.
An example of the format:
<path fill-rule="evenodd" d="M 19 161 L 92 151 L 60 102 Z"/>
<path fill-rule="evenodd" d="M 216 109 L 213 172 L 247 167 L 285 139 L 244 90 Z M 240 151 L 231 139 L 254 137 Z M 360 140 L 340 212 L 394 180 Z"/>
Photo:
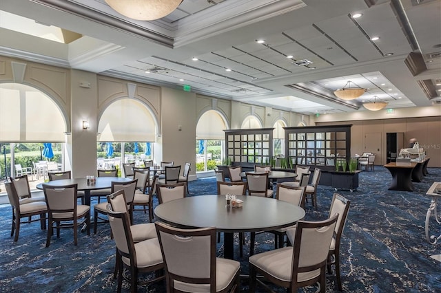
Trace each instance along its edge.
<path fill-rule="evenodd" d="M 298 221 L 294 246 L 254 254 L 249 257 L 249 291 L 256 292 L 257 278 L 262 275 L 267 281 L 286 287 L 287 292 L 298 288 L 320 284 L 320 292 L 326 291 L 326 265 L 332 236 L 338 215 L 325 221 Z"/>

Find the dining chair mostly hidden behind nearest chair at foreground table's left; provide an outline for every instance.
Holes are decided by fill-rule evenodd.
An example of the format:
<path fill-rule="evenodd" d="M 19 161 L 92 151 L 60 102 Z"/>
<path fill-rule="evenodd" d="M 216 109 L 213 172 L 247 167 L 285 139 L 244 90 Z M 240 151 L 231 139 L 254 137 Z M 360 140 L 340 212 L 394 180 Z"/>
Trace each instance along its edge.
<path fill-rule="evenodd" d="M 125 200 L 124 190 L 120 189 L 119 191 L 115 191 L 114 193 L 107 195 L 107 202 L 111 205 L 112 210 L 114 212 L 121 213 L 129 213 L 127 209 L 127 201 Z M 107 207 L 106 207 L 107 212 Z M 141 242 L 147 239 L 157 238 L 156 228 L 153 223 L 143 223 L 143 224 L 133 224 L 130 221 L 130 232 L 132 232 L 132 239 L 134 243 Z M 113 233 L 111 235 L 113 238 Z M 115 268 L 114 268 L 114 279 L 118 274 L 118 266 L 119 266 L 119 257 L 118 250 L 116 250 L 116 258 L 115 258 Z"/>

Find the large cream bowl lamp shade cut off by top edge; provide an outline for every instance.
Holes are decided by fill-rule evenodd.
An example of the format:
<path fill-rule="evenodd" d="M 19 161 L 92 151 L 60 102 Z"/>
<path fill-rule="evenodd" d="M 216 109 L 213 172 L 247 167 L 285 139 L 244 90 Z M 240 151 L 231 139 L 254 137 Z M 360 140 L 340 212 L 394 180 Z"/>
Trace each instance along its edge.
<path fill-rule="evenodd" d="M 105 0 L 116 12 L 130 19 L 153 21 L 172 13 L 182 0 Z"/>

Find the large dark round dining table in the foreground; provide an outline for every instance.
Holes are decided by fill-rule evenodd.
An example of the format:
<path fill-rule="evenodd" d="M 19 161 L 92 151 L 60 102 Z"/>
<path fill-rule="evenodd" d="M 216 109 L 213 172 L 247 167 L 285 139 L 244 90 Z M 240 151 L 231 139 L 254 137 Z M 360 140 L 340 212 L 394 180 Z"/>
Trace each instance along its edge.
<path fill-rule="evenodd" d="M 305 217 L 305 210 L 277 199 L 237 195 L 242 207 L 226 206 L 225 195 L 184 197 L 158 205 L 157 219 L 179 228 L 216 227 L 224 232 L 224 257 L 234 257 L 234 232 L 258 232 L 285 228 Z"/>

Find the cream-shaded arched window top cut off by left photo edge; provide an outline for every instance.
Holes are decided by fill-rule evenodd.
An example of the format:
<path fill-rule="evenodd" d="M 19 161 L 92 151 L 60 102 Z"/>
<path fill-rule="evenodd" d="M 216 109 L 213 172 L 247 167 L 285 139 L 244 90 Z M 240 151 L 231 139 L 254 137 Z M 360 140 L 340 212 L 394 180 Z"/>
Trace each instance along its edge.
<path fill-rule="evenodd" d="M 1 142 L 64 142 L 66 122 L 58 105 L 39 89 L 0 84 Z"/>

